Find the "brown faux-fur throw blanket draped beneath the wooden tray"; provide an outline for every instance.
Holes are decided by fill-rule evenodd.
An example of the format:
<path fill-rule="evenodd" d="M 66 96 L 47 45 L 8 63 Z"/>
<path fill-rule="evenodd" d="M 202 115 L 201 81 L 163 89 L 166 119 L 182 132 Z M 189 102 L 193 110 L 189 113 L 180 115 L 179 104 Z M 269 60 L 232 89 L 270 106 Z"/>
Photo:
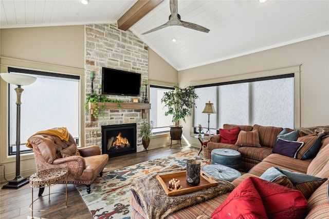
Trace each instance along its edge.
<path fill-rule="evenodd" d="M 171 168 L 170 170 L 167 169 L 150 173 L 143 177 L 136 178 L 133 181 L 131 192 L 135 195 L 136 200 L 139 200 L 140 206 L 149 219 L 165 218 L 169 214 L 182 208 L 204 202 L 234 189 L 234 185 L 230 182 L 214 179 L 218 183 L 217 186 L 185 195 L 168 196 L 165 190 L 161 187 L 156 176 L 159 174 L 183 170 L 186 170 L 186 168 Z"/>

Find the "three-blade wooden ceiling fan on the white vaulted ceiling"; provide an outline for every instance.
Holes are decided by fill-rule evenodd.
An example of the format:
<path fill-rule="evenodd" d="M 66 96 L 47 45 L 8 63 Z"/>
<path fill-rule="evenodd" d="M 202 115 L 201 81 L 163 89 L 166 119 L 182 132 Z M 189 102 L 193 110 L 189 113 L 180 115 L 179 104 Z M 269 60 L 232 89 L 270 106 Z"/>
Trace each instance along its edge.
<path fill-rule="evenodd" d="M 170 0 L 170 13 L 171 14 L 169 16 L 169 21 L 166 24 L 163 24 L 159 27 L 156 27 L 156 28 L 154 28 L 152 30 L 149 30 L 149 31 L 147 31 L 145 33 L 142 33 L 142 34 L 151 33 L 153 31 L 160 30 L 162 28 L 170 27 L 170 26 L 182 26 L 182 27 L 186 27 L 186 28 L 190 28 L 190 29 L 193 29 L 193 30 L 202 31 L 202 32 L 206 32 L 206 33 L 208 33 L 210 31 L 209 29 L 207 29 L 203 26 L 181 21 L 180 15 L 178 14 L 177 0 Z"/>

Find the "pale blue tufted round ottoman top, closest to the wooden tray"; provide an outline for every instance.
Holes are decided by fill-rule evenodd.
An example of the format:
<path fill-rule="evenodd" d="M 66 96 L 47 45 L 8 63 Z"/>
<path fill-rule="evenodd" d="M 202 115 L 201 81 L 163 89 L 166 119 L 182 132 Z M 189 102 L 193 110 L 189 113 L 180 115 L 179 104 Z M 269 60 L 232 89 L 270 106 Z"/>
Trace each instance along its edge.
<path fill-rule="evenodd" d="M 206 165 L 202 167 L 201 170 L 214 178 L 221 178 L 222 180 L 229 182 L 232 182 L 237 177 L 241 176 L 239 171 L 224 165 Z"/>

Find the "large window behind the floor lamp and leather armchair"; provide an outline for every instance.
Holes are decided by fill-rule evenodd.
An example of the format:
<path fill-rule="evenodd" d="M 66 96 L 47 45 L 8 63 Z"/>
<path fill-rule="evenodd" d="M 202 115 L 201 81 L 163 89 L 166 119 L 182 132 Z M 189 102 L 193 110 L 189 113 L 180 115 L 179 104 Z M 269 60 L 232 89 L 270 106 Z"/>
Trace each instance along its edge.
<path fill-rule="evenodd" d="M 21 151 L 35 132 L 66 127 L 79 138 L 79 79 L 80 76 L 8 68 L 9 72 L 29 74 L 36 81 L 24 89 L 21 98 Z M 9 85 L 9 155 L 16 152 L 16 92 Z"/>

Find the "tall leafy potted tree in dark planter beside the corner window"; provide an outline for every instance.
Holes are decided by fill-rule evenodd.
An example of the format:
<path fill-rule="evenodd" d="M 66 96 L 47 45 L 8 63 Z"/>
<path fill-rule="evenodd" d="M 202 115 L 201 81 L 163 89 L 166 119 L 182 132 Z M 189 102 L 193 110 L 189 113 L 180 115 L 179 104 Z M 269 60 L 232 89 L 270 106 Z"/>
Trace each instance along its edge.
<path fill-rule="evenodd" d="M 191 115 L 196 98 L 198 98 L 198 95 L 192 86 L 179 88 L 178 85 L 175 85 L 174 90 L 163 93 L 161 103 L 165 103 L 168 107 L 165 115 L 173 115 L 172 122 L 175 124 L 170 127 L 171 140 L 181 141 L 182 129 L 179 126 L 179 120 L 183 120 L 186 123 L 185 118 Z"/>

